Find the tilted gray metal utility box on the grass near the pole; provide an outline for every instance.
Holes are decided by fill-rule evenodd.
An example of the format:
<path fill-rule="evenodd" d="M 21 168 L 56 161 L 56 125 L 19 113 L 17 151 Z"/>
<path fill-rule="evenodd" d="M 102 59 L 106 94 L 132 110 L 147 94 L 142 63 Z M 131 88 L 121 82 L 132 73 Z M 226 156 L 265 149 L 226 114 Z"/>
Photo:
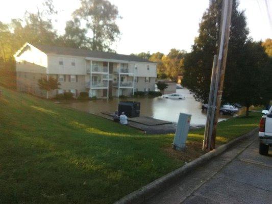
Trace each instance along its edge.
<path fill-rule="evenodd" d="M 173 142 L 173 148 L 179 151 L 183 151 L 186 148 L 186 140 L 190 128 L 191 121 L 190 114 L 180 113 L 178 126 Z"/>

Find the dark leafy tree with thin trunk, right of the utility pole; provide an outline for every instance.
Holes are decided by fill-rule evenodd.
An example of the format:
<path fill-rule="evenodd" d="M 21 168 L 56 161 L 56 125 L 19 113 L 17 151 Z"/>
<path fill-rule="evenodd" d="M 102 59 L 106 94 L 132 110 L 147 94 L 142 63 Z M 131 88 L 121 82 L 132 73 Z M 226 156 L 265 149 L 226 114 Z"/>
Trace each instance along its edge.
<path fill-rule="evenodd" d="M 246 116 L 249 116 L 250 106 L 264 105 L 271 99 L 272 89 L 267 86 L 271 69 L 266 71 L 267 63 L 268 56 L 261 42 L 249 40 L 244 46 L 243 55 L 240 55 L 239 68 L 233 74 L 226 73 L 229 83 L 228 88 L 224 89 L 224 100 L 246 107 Z"/>

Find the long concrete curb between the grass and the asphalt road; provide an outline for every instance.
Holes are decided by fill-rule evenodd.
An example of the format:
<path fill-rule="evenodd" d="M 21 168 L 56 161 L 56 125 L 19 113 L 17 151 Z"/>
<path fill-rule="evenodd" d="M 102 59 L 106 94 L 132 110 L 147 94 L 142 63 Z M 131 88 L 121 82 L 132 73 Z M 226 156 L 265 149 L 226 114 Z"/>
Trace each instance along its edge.
<path fill-rule="evenodd" d="M 154 196 L 165 187 L 170 186 L 175 181 L 181 179 L 181 177 L 185 176 L 188 172 L 192 171 L 194 168 L 203 165 L 205 162 L 211 160 L 212 158 L 220 155 L 226 149 L 234 146 L 237 142 L 240 142 L 246 139 L 249 136 L 252 136 L 254 133 L 257 133 L 258 128 L 246 133 L 226 144 L 219 146 L 218 148 L 207 152 L 206 154 L 200 156 L 199 158 L 185 164 L 184 166 L 160 177 L 159 179 L 147 184 L 146 186 L 142 187 L 139 190 L 136 190 L 125 197 L 122 197 L 120 200 L 114 202 L 114 204 L 139 204 L 143 203 L 145 200 L 149 199 L 150 197 Z"/>

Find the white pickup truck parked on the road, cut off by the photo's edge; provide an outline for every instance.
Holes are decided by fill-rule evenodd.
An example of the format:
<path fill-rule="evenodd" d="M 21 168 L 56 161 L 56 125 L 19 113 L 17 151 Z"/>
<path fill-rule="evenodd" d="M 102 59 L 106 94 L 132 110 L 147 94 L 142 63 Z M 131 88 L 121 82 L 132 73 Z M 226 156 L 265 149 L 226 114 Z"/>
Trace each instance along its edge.
<path fill-rule="evenodd" d="M 272 106 L 269 110 L 263 110 L 264 114 L 259 125 L 259 153 L 267 155 L 269 146 L 272 146 Z"/>

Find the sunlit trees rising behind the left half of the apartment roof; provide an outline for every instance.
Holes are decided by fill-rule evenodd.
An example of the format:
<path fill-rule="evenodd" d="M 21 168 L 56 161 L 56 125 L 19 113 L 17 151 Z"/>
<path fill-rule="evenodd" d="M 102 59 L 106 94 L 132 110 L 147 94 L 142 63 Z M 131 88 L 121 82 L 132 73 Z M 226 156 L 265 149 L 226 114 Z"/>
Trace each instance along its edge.
<path fill-rule="evenodd" d="M 13 60 L 15 52 L 26 42 L 114 52 L 110 48 L 119 35 L 118 8 L 107 0 L 81 0 L 81 6 L 58 35 L 53 17 L 58 14 L 53 0 L 44 0 L 34 13 L 23 18 L 0 21 L 0 63 Z"/>

